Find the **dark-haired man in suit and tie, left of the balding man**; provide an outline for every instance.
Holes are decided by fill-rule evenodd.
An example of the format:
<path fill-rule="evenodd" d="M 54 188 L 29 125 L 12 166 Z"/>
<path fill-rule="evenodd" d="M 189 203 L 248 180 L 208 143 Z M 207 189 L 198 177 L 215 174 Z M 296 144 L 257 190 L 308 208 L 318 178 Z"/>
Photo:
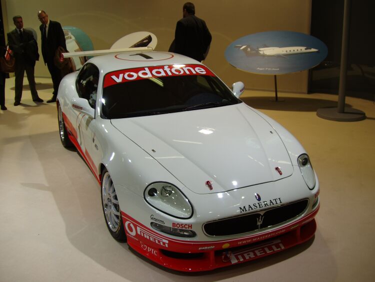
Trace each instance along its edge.
<path fill-rule="evenodd" d="M 28 85 L 31 91 L 32 101 L 43 102 L 39 98 L 35 88 L 34 67 L 35 61 L 39 60 L 37 43 L 32 32 L 23 29 L 21 16 L 14 16 L 13 23 L 15 29 L 7 33 L 8 45 L 13 51 L 14 63 L 14 106 L 18 106 L 22 97 L 23 76 L 26 71 Z"/>

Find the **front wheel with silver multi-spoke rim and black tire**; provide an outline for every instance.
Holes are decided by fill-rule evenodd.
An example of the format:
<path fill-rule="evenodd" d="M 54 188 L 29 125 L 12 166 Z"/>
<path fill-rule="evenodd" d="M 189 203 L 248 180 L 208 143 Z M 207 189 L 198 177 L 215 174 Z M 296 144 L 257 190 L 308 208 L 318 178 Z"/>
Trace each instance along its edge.
<path fill-rule="evenodd" d="M 105 223 L 109 233 L 115 240 L 126 242 L 121 210 L 112 178 L 106 169 L 103 170 L 101 175 L 101 206 L 103 208 Z"/>

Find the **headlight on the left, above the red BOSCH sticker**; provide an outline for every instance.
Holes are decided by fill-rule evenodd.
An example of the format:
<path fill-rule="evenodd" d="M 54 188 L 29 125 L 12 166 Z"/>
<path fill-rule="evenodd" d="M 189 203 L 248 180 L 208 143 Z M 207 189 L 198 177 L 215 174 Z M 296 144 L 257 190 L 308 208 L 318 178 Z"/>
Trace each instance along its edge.
<path fill-rule="evenodd" d="M 177 218 L 190 218 L 192 206 L 189 200 L 173 184 L 154 182 L 144 189 L 144 199 L 154 208 Z"/>

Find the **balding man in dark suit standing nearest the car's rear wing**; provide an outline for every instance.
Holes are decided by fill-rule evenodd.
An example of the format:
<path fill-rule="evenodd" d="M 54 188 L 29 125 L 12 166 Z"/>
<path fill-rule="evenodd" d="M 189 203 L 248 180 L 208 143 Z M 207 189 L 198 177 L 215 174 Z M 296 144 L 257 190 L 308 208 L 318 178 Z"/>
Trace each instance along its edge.
<path fill-rule="evenodd" d="M 47 65 L 53 83 L 53 96 L 47 103 L 52 103 L 56 102 L 58 85 L 61 81 L 61 71 L 54 65 L 53 58 L 59 46 L 66 51 L 65 36 L 60 23 L 50 21 L 44 11 L 39 11 L 37 16 L 41 23 L 39 26 L 41 33 L 41 54 L 43 55 L 44 65 Z"/>

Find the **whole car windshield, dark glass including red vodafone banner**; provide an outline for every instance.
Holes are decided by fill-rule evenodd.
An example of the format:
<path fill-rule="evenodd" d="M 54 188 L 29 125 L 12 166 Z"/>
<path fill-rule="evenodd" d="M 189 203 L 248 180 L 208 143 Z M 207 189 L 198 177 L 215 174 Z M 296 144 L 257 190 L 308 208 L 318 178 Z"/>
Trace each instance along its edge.
<path fill-rule="evenodd" d="M 158 115 L 241 103 L 205 66 L 126 69 L 104 76 L 103 118 Z"/>

